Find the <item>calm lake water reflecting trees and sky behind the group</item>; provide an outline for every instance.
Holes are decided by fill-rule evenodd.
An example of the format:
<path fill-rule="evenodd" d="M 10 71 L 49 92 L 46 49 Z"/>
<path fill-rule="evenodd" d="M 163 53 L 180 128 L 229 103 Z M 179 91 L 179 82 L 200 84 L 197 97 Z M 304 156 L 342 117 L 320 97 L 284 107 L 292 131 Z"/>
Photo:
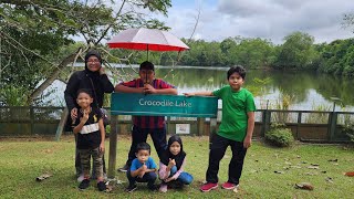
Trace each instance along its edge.
<path fill-rule="evenodd" d="M 135 69 L 137 70 L 137 69 Z M 158 67 L 156 77 L 164 78 L 178 88 L 178 94 L 195 91 L 214 91 L 226 84 L 227 71 L 216 67 Z M 118 75 L 110 75 L 112 82 L 127 81 L 136 77 L 131 67 L 118 71 Z M 268 83 L 254 80 L 269 78 Z M 354 81 L 350 78 L 299 71 L 260 71 L 249 70 L 243 87 L 254 91 L 258 108 L 274 108 L 282 95 L 291 96 L 290 109 L 332 111 L 333 100 L 337 97 L 335 111 L 354 112 Z M 55 81 L 49 90 L 55 92 L 49 97 L 52 105 L 64 106 L 63 92 L 65 84 Z M 320 108 L 322 107 L 322 108 Z"/>

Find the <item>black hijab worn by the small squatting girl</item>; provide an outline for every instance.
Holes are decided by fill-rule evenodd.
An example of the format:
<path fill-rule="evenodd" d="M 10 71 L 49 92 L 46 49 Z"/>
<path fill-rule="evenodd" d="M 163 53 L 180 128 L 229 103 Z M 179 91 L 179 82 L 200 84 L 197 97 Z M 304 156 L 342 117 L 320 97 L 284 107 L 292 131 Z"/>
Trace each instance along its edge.
<path fill-rule="evenodd" d="M 177 154 L 176 156 L 173 155 L 170 151 L 169 151 L 169 147 L 173 143 L 179 143 L 180 145 L 180 151 L 179 154 Z M 165 151 L 163 153 L 163 156 L 162 156 L 162 159 L 160 161 L 164 164 L 164 165 L 168 165 L 169 163 L 169 159 L 175 159 L 176 161 L 176 167 L 177 167 L 177 170 L 180 169 L 180 166 L 181 164 L 184 163 L 185 160 L 185 157 L 186 157 L 186 153 L 184 151 L 184 145 L 181 144 L 181 139 L 178 135 L 173 135 L 171 137 L 169 137 L 168 139 L 168 145 L 167 145 L 167 148 L 165 149 Z"/>

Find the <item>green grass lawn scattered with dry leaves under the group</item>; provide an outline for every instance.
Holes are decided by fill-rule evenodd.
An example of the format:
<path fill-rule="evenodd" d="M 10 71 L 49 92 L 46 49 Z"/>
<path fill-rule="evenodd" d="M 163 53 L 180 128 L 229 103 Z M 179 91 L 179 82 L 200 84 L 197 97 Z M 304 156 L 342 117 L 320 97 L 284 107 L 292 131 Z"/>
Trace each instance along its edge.
<path fill-rule="evenodd" d="M 114 184 L 112 192 L 98 192 L 92 181 L 88 190 L 77 190 L 74 177 L 73 136 L 64 136 L 61 142 L 21 138 L 0 139 L 0 198 L 353 198 L 354 177 L 343 172 L 354 171 L 354 149 L 336 145 L 296 144 L 291 148 L 273 148 L 261 142 L 253 142 L 248 150 L 238 192 L 220 187 L 210 192 L 201 192 L 199 186 L 205 180 L 208 166 L 208 137 L 183 137 L 188 154 L 186 171 L 195 180 L 183 190 L 166 193 L 150 192 L 139 185 L 133 193 L 124 192 L 127 186 L 125 174 L 116 178 L 123 184 Z M 153 146 L 152 140 L 148 143 Z M 106 158 L 108 157 L 106 142 Z M 117 167 L 127 157 L 129 138 L 118 137 Z M 155 149 L 152 153 L 158 161 Z M 219 184 L 227 180 L 230 148 L 221 160 Z M 337 161 L 335 161 L 337 159 Z M 106 165 L 107 164 L 106 159 Z M 311 168 L 316 167 L 317 169 Z M 309 168 L 310 167 L 310 168 Z M 41 174 L 53 176 L 35 181 Z M 277 171 L 277 172 L 274 172 Z M 314 190 L 295 189 L 298 182 L 310 182 Z"/>

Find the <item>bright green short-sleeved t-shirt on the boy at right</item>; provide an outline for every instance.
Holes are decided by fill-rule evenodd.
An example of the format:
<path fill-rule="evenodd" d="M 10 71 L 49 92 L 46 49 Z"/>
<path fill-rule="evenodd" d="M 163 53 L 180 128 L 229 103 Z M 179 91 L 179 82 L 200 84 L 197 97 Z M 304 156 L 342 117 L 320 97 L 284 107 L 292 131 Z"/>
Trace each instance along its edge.
<path fill-rule="evenodd" d="M 221 137 L 243 142 L 247 134 L 248 112 L 254 112 L 253 95 L 246 88 L 238 92 L 227 85 L 214 91 L 212 95 L 222 100 L 222 118 L 218 135 Z"/>

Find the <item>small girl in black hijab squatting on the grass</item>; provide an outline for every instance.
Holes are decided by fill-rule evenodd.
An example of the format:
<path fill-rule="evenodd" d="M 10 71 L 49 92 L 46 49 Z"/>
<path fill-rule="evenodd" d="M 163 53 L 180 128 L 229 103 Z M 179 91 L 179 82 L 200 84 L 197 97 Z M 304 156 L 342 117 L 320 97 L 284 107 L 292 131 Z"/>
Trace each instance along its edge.
<path fill-rule="evenodd" d="M 171 136 L 159 161 L 159 178 L 163 180 L 160 192 L 166 192 L 167 187 L 173 187 L 174 184 L 177 184 L 177 187 L 191 184 L 192 176 L 184 171 L 186 155 L 180 137 Z"/>

